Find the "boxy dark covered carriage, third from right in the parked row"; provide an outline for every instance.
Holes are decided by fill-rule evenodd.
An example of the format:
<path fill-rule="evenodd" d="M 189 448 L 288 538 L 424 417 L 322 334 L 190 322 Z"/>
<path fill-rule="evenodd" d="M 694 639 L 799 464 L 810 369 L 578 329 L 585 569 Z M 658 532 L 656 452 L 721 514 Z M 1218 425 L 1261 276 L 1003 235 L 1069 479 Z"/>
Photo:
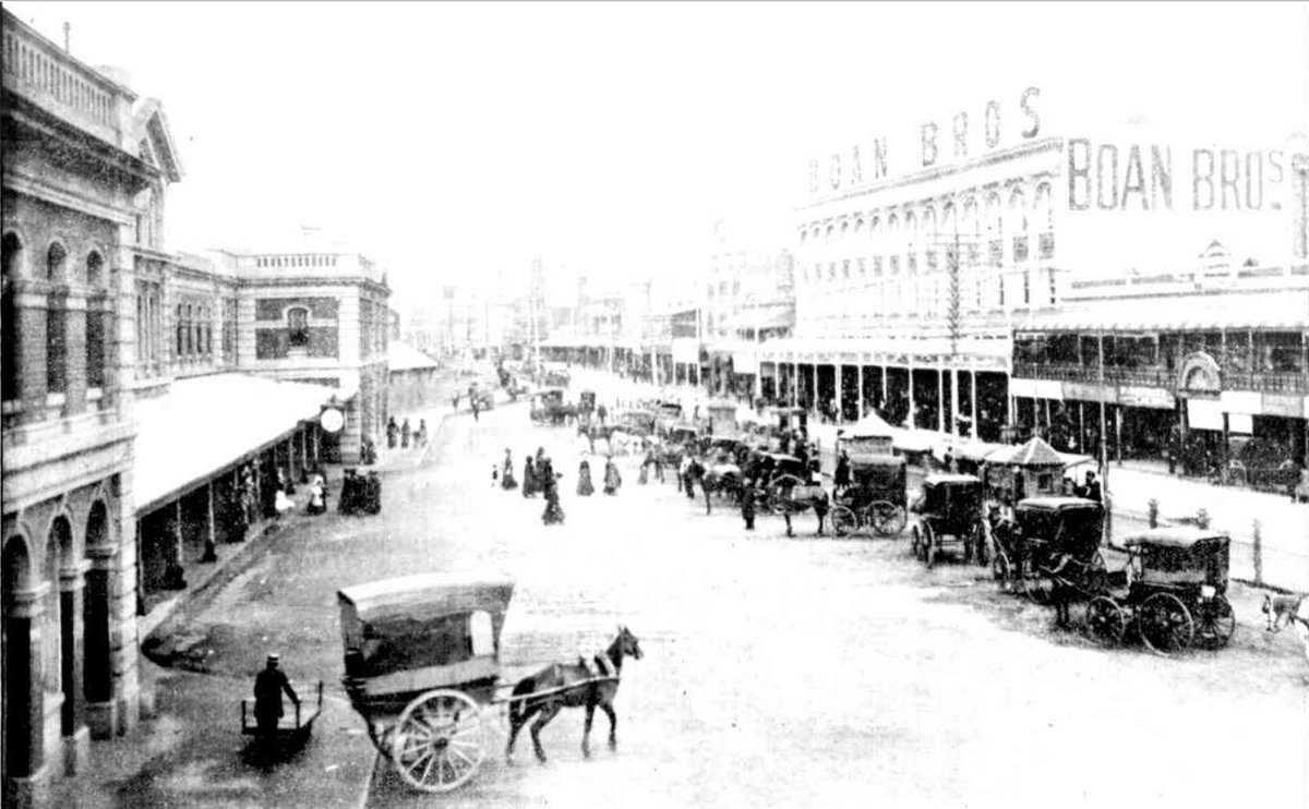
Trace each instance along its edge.
<path fill-rule="evenodd" d="M 942 551 L 962 551 L 965 562 L 986 555 L 982 517 L 982 480 L 973 475 L 936 474 L 923 480 L 923 497 L 914 504 L 914 556 L 936 564 Z"/>

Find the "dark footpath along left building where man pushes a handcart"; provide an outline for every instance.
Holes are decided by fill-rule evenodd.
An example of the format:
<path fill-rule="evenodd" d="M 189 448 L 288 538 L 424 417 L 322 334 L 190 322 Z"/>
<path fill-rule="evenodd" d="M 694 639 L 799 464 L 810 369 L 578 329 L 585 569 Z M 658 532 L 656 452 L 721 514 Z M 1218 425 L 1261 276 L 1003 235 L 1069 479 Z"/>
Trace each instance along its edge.
<path fill-rule="evenodd" d="M 378 462 L 361 467 L 384 475 L 403 474 L 423 463 L 444 419 L 469 418 L 432 407 L 427 418 L 428 445 L 414 449 L 378 450 Z M 342 466 L 326 467 L 329 508 L 339 504 Z M 253 675 L 229 675 L 187 670 L 203 669 L 203 660 L 171 655 L 171 647 L 187 631 L 188 618 L 213 602 L 223 589 L 255 566 L 279 535 L 304 530 L 315 517 L 305 513 L 308 487 L 297 486 L 296 508 L 278 520 L 251 526 L 241 543 L 220 545 L 217 560 L 187 567 L 187 586 L 152 605 L 139 620 L 143 692 L 153 696 L 152 716 L 134 733 L 107 744 L 93 744 L 82 770 L 51 784 L 51 804 L 64 809 L 111 809 L 122 806 L 267 806 L 270 809 L 355 809 L 364 805 L 376 753 L 348 700 L 335 683 L 325 683 L 323 712 L 313 734 L 300 747 L 287 747 L 266 761 L 251 737 L 241 737 L 241 700 L 251 695 Z M 335 639 L 332 639 L 335 643 Z M 171 668 L 152 662 L 148 655 L 170 660 Z M 295 682 L 309 707 L 313 686 Z M 289 706 L 288 706 L 289 708 Z"/>

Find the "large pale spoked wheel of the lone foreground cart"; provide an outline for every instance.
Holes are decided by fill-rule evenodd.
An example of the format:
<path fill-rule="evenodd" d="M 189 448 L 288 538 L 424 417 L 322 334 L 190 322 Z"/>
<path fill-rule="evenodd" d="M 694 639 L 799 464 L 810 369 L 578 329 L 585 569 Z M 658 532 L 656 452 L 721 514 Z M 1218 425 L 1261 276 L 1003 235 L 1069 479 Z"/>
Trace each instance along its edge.
<path fill-rule="evenodd" d="M 395 723 L 391 759 L 401 778 L 424 792 L 449 792 L 478 771 L 486 755 L 482 710 L 467 694 L 428 691 Z"/>

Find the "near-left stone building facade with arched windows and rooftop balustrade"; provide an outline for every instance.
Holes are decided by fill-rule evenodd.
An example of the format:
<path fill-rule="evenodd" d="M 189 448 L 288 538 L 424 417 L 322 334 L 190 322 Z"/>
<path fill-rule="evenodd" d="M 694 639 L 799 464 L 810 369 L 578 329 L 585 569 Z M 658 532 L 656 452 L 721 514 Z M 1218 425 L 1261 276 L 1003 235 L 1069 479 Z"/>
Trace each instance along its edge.
<path fill-rule="evenodd" d="M 29 805 L 141 712 L 135 246 L 181 166 L 157 102 L 3 27 L 3 779 Z"/>

